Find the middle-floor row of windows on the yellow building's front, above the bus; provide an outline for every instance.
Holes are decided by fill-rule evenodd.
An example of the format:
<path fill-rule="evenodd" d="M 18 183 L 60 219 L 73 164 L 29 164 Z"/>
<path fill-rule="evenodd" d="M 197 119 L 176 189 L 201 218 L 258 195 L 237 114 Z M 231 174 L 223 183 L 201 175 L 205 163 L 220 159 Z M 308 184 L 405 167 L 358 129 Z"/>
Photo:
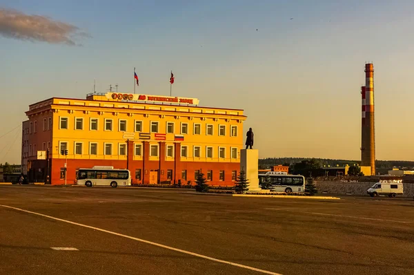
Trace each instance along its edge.
<path fill-rule="evenodd" d="M 181 157 L 188 158 L 189 154 L 189 146 L 184 145 L 181 146 Z M 30 150 L 30 149 L 29 149 Z M 59 143 L 59 151 L 68 150 L 68 142 L 60 142 Z M 206 146 L 206 158 L 214 158 L 214 149 L 213 146 Z M 135 155 L 142 155 L 142 144 L 135 144 L 134 148 Z M 83 154 L 83 142 L 75 142 L 75 155 L 82 155 Z M 97 155 L 98 154 L 98 144 L 97 142 L 90 142 L 89 143 L 89 155 Z M 112 143 L 104 143 L 103 144 L 103 154 L 104 155 L 115 155 L 113 151 L 113 144 Z M 118 155 L 126 155 L 126 143 L 119 143 L 118 144 Z M 158 144 L 150 144 L 150 156 L 158 157 L 159 156 L 159 145 Z M 167 144 L 166 145 L 166 156 L 167 157 L 174 157 L 174 145 Z M 194 158 L 201 158 L 201 146 L 193 146 L 193 155 Z M 226 158 L 226 147 L 218 147 L 218 156 L 219 158 Z M 238 158 L 238 149 L 237 147 L 230 148 L 230 157 L 237 159 Z"/>

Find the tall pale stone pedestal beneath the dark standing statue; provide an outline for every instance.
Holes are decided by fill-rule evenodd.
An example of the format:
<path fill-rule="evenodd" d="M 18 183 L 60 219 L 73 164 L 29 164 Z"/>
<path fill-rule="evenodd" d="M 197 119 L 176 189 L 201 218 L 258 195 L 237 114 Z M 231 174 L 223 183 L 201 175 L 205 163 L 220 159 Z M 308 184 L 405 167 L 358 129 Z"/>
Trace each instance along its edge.
<path fill-rule="evenodd" d="M 259 192 L 259 150 L 242 149 L 240 151 L 240 171 L 246 172 L 248 191 Z"/>

